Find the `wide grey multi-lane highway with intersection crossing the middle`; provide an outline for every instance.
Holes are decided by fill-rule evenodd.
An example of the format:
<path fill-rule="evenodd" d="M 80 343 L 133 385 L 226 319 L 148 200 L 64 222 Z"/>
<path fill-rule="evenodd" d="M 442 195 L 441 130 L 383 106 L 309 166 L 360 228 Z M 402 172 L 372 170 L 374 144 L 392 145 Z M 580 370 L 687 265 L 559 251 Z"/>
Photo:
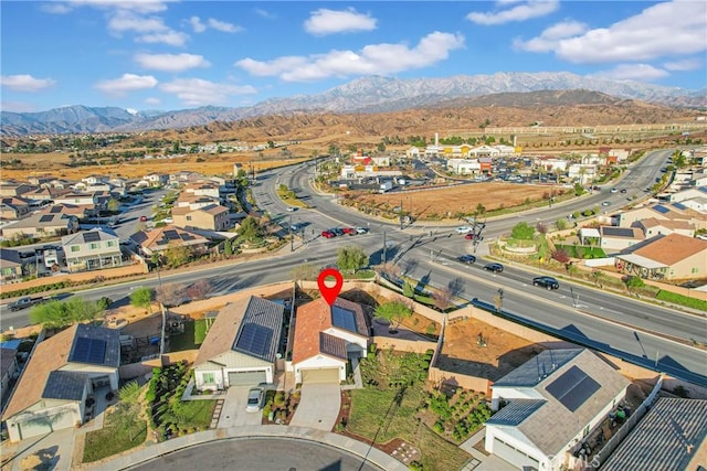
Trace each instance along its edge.
<path fill-rule="evenodd" d="M 602 201 L 611 202 L 606 211 L 615 211 L 633 194 L 643 197 L 643 190 L 653 184 L 671 154 L 672 150 L 662 150 L 646 156 L 620 182 L 610 186 L 619 190 L 625 188 L 625 194 L 610 193 L 609 189 L 604 189 L 564 204 L 488 221 L 484 231 L 485 240 L 509 233 L 520 221 L 532 225 L 537 222 L 552 224 L 576 210 L 593 207 Z M 399 224 L 368 218 L 337 204 L 330 195 L 314 192 L 309 185 L 313 170 L 313 164 L 304 163 L 266 171 L 257 175 L 253 186 L 258 207 L 270 213 L 274 221 L 306 224 L 306 242 L 296 238 L 294 251 L 285 249 L 268 259 L 241 259 L 226 267 L 197 268 L 184 274 L 162 272 L 162 282 L 190 283 L 194 279 L 208 279 L 212 286 L 211 296 L 219 296 L 252 286 L 285 281 L 289 279 L 291 269 L 304 263 L 314 266 L 334 264 L 337 248 L 345 245 L 362 247 L 370 255 L 371 265 L 377 265 L 383 260 L 386 239 L 391 245 L 386 250 L 386 259 L 394 260 L 407 276 L 424 280 L 426 286 L 453 287 L 460 298 L 476 298 L 488 303 L 494 302 L 498 288 L 503 288 L 503 310 L 526 323 L 608 353 L 623 354 L 635 363 L 707 386 L 707 352 L 689 346 L 689 342 L 707 344 L 705 317 L 637 301 L 567 279 L 560 279 L 559 290 L 547 291 L 531 285 L 531 278 L 540 275 L 539 271 L 513 264 L 506 264 L 503 274 L 490 274 L 481 268 L 487 261 L 484 259 L 487 254 L 484 244 L 476 254 L 479 257 L 476 264 L 460 264 L 455 258 L 472 253 L 473 246 L 455 233 L 455 226 L 413 223 L 401 231 Z M 295 190 L 297 196 L 313 208 L 287 212 L 287 205 L 276 194 L 276 186 L 281 183 Z M 370 228 L 370 233 L 333 239 L 319 235 L 333 226 L 362 226 Z M 433 234 L 430 235 L 430 232 Z M 76 295 L 86 299 L 106 296 L 114 301 L 127 302 L 127 297 L 136 287 L 157 285 L 157 277 L 151 275 L 146 280 L 84 290 Z M 3 312 L 2 323 L 23 325 L 28 323 L 27 314 L 24 311 Z"/>

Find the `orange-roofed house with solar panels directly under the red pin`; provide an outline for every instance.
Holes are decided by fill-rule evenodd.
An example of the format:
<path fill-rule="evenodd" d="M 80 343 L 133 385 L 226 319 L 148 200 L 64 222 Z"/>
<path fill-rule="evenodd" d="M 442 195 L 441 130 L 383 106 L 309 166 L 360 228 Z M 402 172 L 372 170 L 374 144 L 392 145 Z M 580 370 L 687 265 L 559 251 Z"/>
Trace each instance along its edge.
<path fill-rule="evenodd" d="M 360 304 L 337 298 L 329 306 L 324 298 L 297 309 L 292 366 L 295 383 L 346 381 L 349 357 L 366 356 L 369 325 Z"/>

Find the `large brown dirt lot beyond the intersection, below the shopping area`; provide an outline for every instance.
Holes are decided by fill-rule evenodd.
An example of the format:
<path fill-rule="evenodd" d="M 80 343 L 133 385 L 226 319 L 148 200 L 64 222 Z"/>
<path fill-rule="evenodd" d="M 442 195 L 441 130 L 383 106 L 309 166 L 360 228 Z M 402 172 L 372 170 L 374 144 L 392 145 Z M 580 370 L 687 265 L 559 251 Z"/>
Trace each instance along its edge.
<path fill-rule="evenodd" d="M 449 217 L 456 213 L 473 213 L 481 203 L 486 211 L 521 205 L 527 199 L 537 201 L 548 197 L 551 192 L 558 194 L 557 186 L 519 185 L 514 183 L 476 183 L 452 186 L 441 190 L 421 190 L 403 194 L 354 194 L 358 207 L 378 207 L 390 211 L 402 203 L 403 211 L 414 218 Z"/>

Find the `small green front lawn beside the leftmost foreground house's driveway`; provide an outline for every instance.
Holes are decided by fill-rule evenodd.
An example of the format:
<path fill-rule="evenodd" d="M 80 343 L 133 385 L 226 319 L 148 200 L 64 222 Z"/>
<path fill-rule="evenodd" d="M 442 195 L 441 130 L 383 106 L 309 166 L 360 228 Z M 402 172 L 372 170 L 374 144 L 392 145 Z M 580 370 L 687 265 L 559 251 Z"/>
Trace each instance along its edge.
<path fill-rule="evenodd" d="M 147 438 L 147 422 L 134 418 L 134 426 L 125 427 L 116 414 L 109 416 L 101 430 L 86 433 L 83 462 L 93 462 L 135 448 Z"/>

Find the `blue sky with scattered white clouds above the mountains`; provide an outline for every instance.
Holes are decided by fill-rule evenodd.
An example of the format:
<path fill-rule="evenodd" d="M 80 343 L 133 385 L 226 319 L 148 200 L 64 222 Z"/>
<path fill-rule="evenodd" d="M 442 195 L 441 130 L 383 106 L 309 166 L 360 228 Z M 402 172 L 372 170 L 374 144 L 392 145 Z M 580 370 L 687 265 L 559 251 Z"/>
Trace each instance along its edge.
<path fill-rule="evenodd" d="M 0 106 L 252 106 L 356 78 L 571 72 L 707 87 L 707 1 L 0 2 Z"/>

